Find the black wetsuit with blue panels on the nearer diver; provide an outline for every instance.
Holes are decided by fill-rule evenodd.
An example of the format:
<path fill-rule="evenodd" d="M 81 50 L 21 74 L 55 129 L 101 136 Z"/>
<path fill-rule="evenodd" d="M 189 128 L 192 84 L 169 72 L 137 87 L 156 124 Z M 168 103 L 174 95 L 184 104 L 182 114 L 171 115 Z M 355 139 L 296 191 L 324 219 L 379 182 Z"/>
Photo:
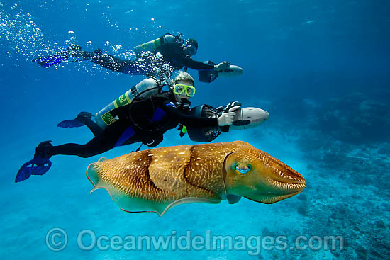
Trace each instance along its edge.
<path fill-rule="evenodd" d="M 130 113 L 131 108 L 131 113 Z M 155 147 L 162 141 L 162 135 L 179 123 L 186 126 L 218 126 L 218 119 L 199 118 L 189 115 L 189 108 L 178 106 L 173 94 L 164 92 L 133 105 L 121 106 L 110 112 L 116 120 L 105 130 L 97 130 L 99 126 L 92 120 L 86 125 L 96 135 L 85 145 L 65 144 L 50 147 L 48 155 L 66 154 L 79 157 L 91 157 L 106 152 L 113 147 L 143 142 Z"/>

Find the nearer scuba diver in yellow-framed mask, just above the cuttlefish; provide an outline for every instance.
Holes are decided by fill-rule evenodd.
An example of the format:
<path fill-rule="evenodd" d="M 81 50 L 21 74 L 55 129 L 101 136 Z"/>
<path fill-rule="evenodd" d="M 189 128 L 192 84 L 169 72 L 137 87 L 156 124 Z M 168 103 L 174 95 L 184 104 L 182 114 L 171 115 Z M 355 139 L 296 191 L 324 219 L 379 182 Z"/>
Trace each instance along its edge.
<path fill-rule="evenodd" d="M 62 121 L 58 126 L 87 125 L 94 138 L 85 145 L 67 143 L 53 146 L 52 141 L 41 142 L 35 149 L 33 159 L 19 169 L 15 182 L 24 181 L 30 175 L 45 174 L 50 169 L 49 159 L 53 155 L 87 158 L 135 142 L 155 147 L 162 142 L 163 134 L 179 123 L 194 128 L 222 128 L 233 123 L 234 111 L 240 107 L 240 103 L 232 102 L 225 111 L 208 117 L 191 115 L 189 98 L 195 94 L 194 79 L 181 71 L 175 77 L 174 84 L 170 79 L 166 81 L 164 83 L 153 77 L 144 79 L 96 113 L 96 123 L 91 120 L 91 113 L 87 112 L 79 113 L 74 120 Z M 162 91 L 164 86 L 169 86 L 169 91 Z"/>

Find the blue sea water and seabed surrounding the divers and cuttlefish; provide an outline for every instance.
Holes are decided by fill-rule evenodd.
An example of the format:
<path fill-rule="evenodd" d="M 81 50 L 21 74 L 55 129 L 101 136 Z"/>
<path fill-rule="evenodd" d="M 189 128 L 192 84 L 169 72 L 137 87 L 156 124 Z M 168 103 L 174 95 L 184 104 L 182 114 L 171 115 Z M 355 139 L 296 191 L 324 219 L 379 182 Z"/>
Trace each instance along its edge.
<path fill-rule="evenodd" d="M 0 0 L 0 18 L 1 259 L 390 259 L 389 1 Z M 192 102 L 238 100 L 269 111 L 259 128 L 214 142 L 244 140 L 289 164 L 306 178 L 299 196 L 273 205 L 246 199 L 179 205 L 163 217 L 125 213 L 106 191 L 89 193 L 85 169 L 101 156 L 53 157 L 45 176 L 13 183 L 39 142 L 91 138 L 86 128 L 57 128 L 58 122 L 99 111 L 143 79 L 89 62 L 43 69 L 30 60 L 69 43 L 131 57 L 135 45 L 167 32 L 198 40 L 194 60 L 228 60 L 245 69 L 211 84 L 189 69 L 196 79 Z M 171 130 L 159 147 L 190 143 Z M 45 242 L 53 227 L 67 232 L 62 251 Z M 82 230 L 109 238 L 207 230 L 289 241 L 342 236 L 344 249 L 82 250 Z"/>

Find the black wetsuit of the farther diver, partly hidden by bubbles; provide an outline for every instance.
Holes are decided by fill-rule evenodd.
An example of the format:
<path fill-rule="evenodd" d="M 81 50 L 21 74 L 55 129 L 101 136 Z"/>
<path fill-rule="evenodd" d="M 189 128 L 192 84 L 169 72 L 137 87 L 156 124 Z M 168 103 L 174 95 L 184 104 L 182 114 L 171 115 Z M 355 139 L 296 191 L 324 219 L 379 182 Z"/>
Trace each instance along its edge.
<path fill-rule="evenodd" d="M 182 67 L 189 67 L 199 71 L 213 71 L 214 69 L 213 65 L 192 60 L 189 55 L 186 55 L 180 43 L 166 43 L 165 45 L 157 47 L 155 52 L 160 52 L 165 61 L 169 62 L 169 64 L 173 67 L 173 70 L 179 70 L 182 69 Z M 145 75 L 152 74 L 154 69 L 153 64 L 150 64 L 147 60 L 145 60 L 145 62 L 139 62 L 138 60 L 122 60 L 112 55 L 102 54 L 101 50 L 84 52 L 84 55 L 89 57 L 89 60 L 92 62 L 114 72 Z"/>

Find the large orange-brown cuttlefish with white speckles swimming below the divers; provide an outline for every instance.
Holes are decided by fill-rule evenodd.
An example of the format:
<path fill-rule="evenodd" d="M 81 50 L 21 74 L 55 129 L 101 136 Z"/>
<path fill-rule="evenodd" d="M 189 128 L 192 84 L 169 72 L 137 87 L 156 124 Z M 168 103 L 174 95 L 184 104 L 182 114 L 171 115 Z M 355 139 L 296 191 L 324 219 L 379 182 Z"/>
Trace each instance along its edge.
<path fill-rule="evenodd" d="M 162 216 L 184 203 L 276 203 L 300 193 L 305 179 L 247 142 L 147 149 L 89 164 L 92 191 L 105 188 L 122 210 Z M 92 192 L 91 191 L 91 192 Z"/>

